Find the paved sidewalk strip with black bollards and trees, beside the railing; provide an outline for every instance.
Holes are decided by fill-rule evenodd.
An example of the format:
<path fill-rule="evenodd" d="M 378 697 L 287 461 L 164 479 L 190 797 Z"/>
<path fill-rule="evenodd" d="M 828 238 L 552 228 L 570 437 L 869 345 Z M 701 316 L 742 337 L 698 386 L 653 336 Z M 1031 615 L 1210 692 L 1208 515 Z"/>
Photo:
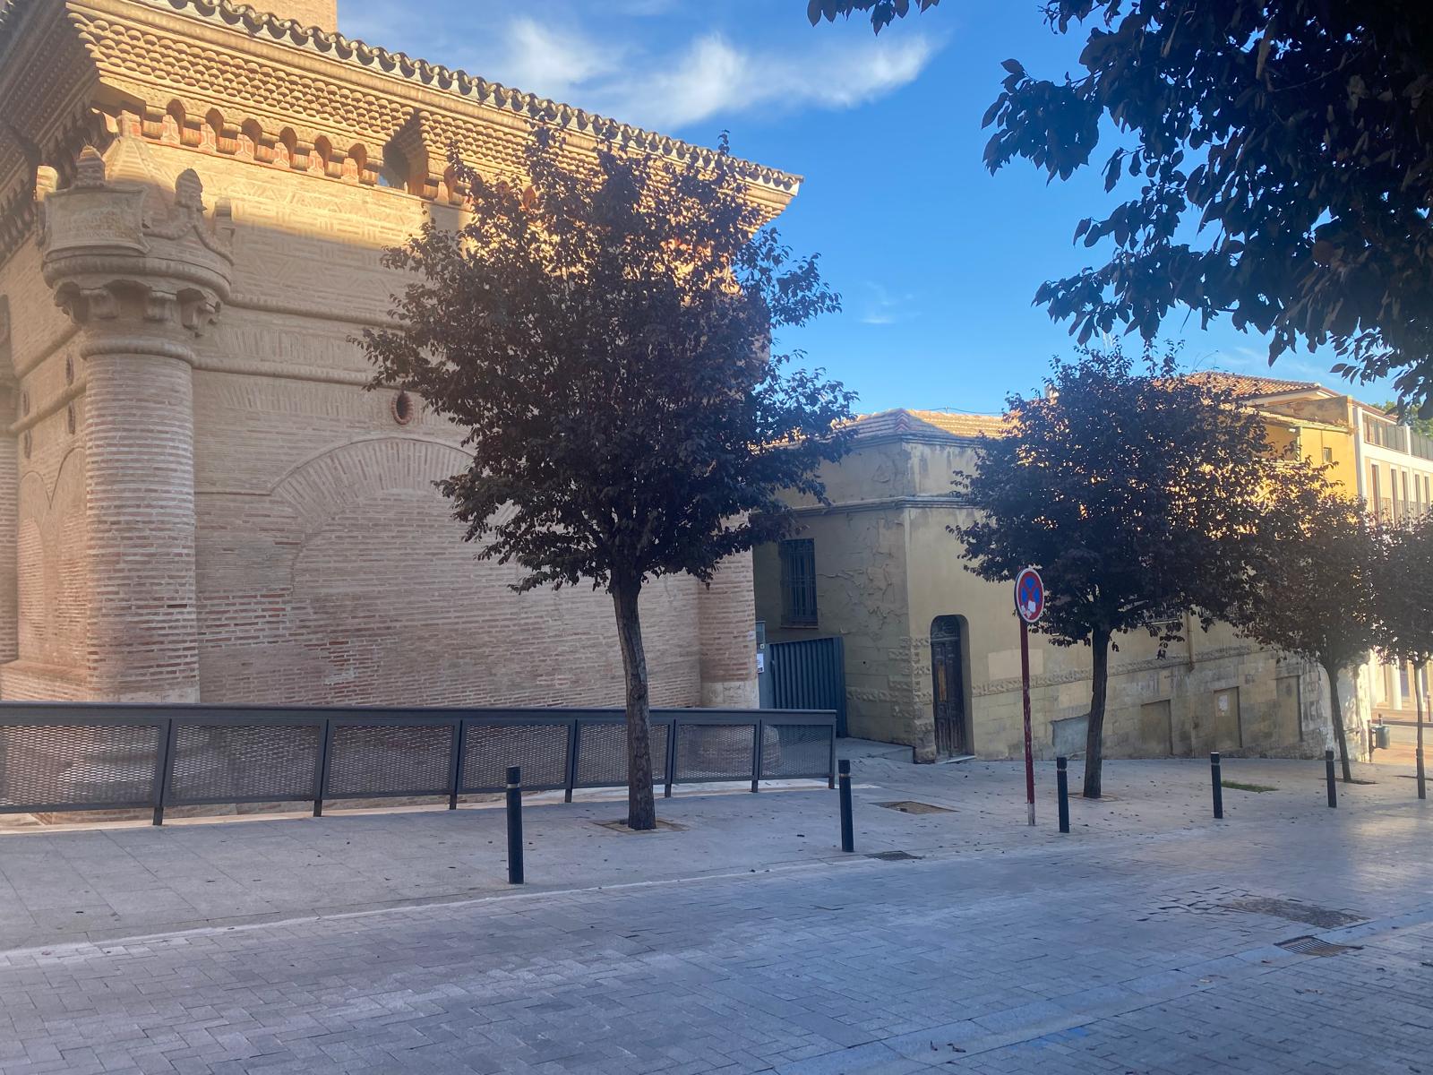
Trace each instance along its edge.
<path fill-rule="evenodd" d="M 1055 826 L 1055 767 L 1037 767 L 1037 826 L 1025 824 L 1019 763 L 911 765 L 887 744 L 847 741 L 853 760 L 857 851 L 921 857 L 1040 854 L 1068 846 L 1126 846 L 1208 833 L 1209 771 L 1199 761 L 1109 761 L 1106 798 L 1079 797 L 1070 770 L 1072 833 Z M 1340 814 L 1377 831 L 1381 813 L 1407 807 L 1413 781 L 1387 765 L 1357 767 L 1374 784 L 1338 785 Z M 1245 821 L 1318 824 L 1323 764 L 1230 760 L 1224 831 Z M 560 796 L 559 796 L 560 800 Z M 881 803 L 911 801 L 903 813 Z M 573 804 L 533 797 L 524 807 L 523 894 L 678 879 L 794 871 L 841 860 L 837 796 L 820 783 L 778 790 L 679 788 L 658 800 L 675 828 L 631 833 L 610 791 Z M 103 940 L 203 926 L 285 920 L 406 904 L 513 894 L 499 804 L 325 817 L 224 817 L 0 830 L 0 949 Z"/>

